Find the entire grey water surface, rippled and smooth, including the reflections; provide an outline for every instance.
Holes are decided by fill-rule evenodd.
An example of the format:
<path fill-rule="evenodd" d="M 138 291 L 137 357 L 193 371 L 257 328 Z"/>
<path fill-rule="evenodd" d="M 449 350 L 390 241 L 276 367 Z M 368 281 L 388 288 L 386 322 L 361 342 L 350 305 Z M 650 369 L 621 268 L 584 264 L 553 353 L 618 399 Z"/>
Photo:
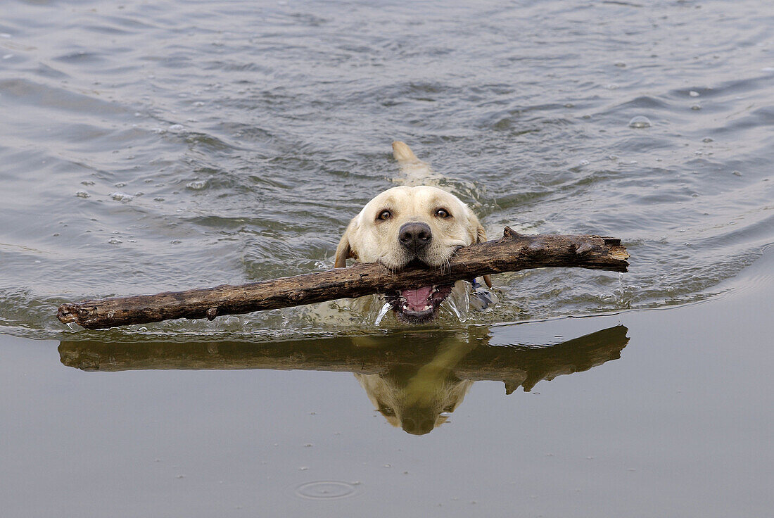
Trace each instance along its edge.
<path fill-rule="evenodd" d="M 4 516 L 767 516 L 772 125 L 757 0 L 5 0 Z M 57 321 L 329 269 L 394 139 L 490 238 L 611 235 L 630 271 L 408 330 Z M 430 426 L 376 385 L 457 399 Z"/>

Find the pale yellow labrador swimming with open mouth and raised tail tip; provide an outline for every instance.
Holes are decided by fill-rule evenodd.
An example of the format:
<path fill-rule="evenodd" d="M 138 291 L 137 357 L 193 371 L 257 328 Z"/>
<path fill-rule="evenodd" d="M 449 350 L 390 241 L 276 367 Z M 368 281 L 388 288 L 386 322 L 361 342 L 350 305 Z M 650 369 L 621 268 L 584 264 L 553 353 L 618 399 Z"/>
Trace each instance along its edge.
<path fill-rule="evenodd" d="M 394 142 L 392 149 L 404 173 L 429 170 L 405 143 Z M 343 268 L 353 258 L 382 262 L 395 271 L 412 265 L 443 269 L 457 248 L 485 240 L 478 218 L 454 194 L 428 185 L 402 185 L 385 190 L 352 218 L 336 249 L 335 267 Z M 491 287 L 488 276 L 485 282 Z M 385 293 L 385 298 L 399 321 L 423 323 L 436 317 L 453 292 L 464 295 L 468 286 L 464 281 L 409 286 Z"/>

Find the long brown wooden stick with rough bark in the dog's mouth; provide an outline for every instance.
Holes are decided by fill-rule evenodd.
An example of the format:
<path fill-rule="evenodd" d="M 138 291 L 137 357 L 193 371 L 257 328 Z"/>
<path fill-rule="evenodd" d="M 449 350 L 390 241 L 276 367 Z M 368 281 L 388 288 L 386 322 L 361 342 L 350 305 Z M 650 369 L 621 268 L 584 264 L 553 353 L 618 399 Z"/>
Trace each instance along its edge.
<path fill-rule="evenodd" d="M 362 297 L 529 268 L 563 266 L 625 272 L 626 259 L 628 252 L 620 239 L 596 235 L 526 235 L 506 227 L 502 239 L 460 249 L 444 269 L 410 268 L 396 273 L 378 262 L 365 262 L 240 286 L 224 284 L 156 295 L 84 300 L 62 304 L 57 318 L 65 324 L 75 322 L 88 329 L 173 318 L 213 320 L 224 314 Z"/>

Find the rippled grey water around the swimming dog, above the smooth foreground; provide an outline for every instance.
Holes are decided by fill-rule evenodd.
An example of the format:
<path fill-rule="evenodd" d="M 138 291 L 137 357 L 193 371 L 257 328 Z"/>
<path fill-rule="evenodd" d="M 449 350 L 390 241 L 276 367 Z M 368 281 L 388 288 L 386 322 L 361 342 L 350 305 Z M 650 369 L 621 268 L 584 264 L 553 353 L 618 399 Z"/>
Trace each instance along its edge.
<path fill-rule="evenodd" d="M 392 139 L 492 236 L 632 252 L 626 276 L 500 276 L 481 322 L 700 300 L 771 238 L 771 27 L 759 2 L 9 2 L 2 328 L 53 338 L 63 300 L 329 268 L 399 179 Z"/>

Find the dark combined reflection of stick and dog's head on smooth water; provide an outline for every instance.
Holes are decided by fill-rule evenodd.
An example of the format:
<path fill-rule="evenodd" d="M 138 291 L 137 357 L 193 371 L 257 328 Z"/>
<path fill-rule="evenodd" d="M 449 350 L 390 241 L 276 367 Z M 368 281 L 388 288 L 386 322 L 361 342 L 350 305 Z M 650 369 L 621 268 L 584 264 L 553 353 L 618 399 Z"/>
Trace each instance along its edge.
<path fill-rule="evenodd" d="M 62 341 L 64 365 L 84 371 L 278 369 L 353 372 L 376 410 L 409 434 L 427 434 L 460 406 L 473 382 L 505 392 L 620 358 L 622 325 L 556 345 L 490 345 L 488 328 L 248 343 Z"/>

